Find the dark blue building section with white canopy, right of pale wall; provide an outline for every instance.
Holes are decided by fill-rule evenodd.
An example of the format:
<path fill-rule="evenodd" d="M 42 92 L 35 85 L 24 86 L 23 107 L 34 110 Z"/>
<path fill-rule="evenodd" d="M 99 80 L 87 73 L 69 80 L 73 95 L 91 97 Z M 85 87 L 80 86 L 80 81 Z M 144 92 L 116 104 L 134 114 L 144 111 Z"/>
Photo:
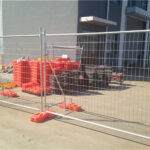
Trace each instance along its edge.
<path fill-rule="evenodd" d="M 150 1 L 148 0 L 79 1 L 78 11 L 78 32 L 146 30 L 150 28 Z M 105 40 L 107 45 L 95 52 L 95 56 L 98 57 L 96 63 L 106 63 L 118 66 L 118 68 L 122 68 L 124 65 L 149 67 L 149 34 L 132 36 L 131 34 L 108 36 Z M 132 46 L 129 44 L 129 40 L 134 42 Z M 118 45 L 115 44 L 115 41 Z M 140 42 L 137 44 L 138 41 Z M 107 52 L 108 49 L 109 52 Z M 90 56 L 87 55 L 87 57 Z"/>

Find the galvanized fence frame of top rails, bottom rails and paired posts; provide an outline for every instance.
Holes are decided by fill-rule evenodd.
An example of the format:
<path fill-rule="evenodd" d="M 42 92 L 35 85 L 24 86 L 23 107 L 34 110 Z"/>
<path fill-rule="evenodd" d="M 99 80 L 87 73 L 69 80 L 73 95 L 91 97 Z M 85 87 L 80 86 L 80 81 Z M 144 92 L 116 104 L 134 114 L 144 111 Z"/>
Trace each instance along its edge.
<path fill-rule="evenodd" d="M 42 91 L 43 91 L 43 89 L 42 89 L 42 87 L 43 87 L 43 85 L 42 85 L 42 83 L 43 83 L 42 82 L 43 73 L 42 73 L 42 59 L 41 59 L 41 102 L 40 102 L 41 103 L 41 109 L 30 107 L 30 106 L 25 106 L 25 105 L 21 105 L 21 104 L 11 103 L 11 102 L 8 102 L 8 101 L 5 101 L 5 100 L 0 100 L 0 102 L 5 103 L 5 104 L 14 105 L 14 106 L 17 106 L 17 107 L 32 109 L 32 110 L 36 110 L 36 111 L 39 111 L 39 110 L 43 111 L 44 110 L 48 113 L 55 114 L 55 115 L 60 116 L 60 117 L 73 119 L 73 120 L 76 120 L 76 121 L 84 122 L 84 123 L 95 125 L 95 126 L 98 126 L 98 127 L 103 127 L 103 128 L 109 129 L 109 130 L 122 132 L 122 133 L 126 133 L 126 134 L 133 135 L 133 136 L 137 136 L 137 137 L 140 137 L 140 138 L 150 139 L 150 136 L 141 135 L 141 134 L 137 134 L 135 132 L 130 132 L 128 130 L 122 130 L 122 129 L 114 128 L 114 127 L 104 125 L 104 124 L 101 124 L 101 123 L 96 123 L 96 122 L 84 120 L 84 119 L 81 119 L 81 118 L 78 118 L 78 117 L 72 117 L 72 116 L 69 116 L 69 115 L 64 115 L 64 114 L 57 113 L 57 112 L 50 112 L 50 111 L 46 110 L 46 108 L 47 108 L 47 96 L 46 96 L 46 88 L 45 88 L 46 87 L 46 57 L 47 57 L 46 52 L 47 52 L 47 47 L 48 47 L 48 44 L 49 44 L 49 43 L 47 43 L 47 37 L 51 38 L 51 37 L 61 37 L 61 36 L 66 37 L 66 36 L 110 35 L 110 34 L 129 34 L 129 33 L 150 33 L 150 30 L 118 31 L 118 32 L 96 32 L 96 33 L 46 34 L 45 29 L 41 28 L 40 29 L 40 34 L 0 36 L 0 38 L 39 37 L 40 45 L 41 45 L 41 58 L 43 58 L 43 56 L 44 56 L 44 95 L 42 93 Z M 51 69 L 53 70 L 51 63 L 50 63 L 50 66 L 51 66 Z M 43 98 L 43 96 L 44 96 L 44 98 Z M 64 102 L 66 102 L 65 98 L 64 98 Z"/>

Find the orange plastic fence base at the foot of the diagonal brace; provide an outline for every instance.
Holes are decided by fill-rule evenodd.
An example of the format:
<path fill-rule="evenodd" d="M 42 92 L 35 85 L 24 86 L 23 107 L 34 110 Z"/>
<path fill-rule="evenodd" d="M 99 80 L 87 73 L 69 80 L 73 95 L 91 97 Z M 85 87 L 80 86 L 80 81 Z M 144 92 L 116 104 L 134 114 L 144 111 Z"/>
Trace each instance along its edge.
<path fill-rule="evenodd" d="M 59 107 L 63 108 L 63 109 L 66 107 L 66 109 L 70 109 L 72 111 L 81 111 L 82 110 L 81 106 L 79 106 L 75 103 L 72 103 L 72 102 L 66 103 L 66 106 L 64 105 L 64 103 L 61 103 L 61 104 L 59 104 Z"/>

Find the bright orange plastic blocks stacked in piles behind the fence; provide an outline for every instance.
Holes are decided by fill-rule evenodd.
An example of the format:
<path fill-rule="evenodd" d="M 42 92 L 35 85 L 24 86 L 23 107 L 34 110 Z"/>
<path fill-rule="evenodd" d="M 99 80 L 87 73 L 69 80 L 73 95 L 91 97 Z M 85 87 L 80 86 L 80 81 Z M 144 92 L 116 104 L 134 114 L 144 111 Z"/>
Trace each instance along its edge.
<path fill-rule="evenodd" d="M 42 86 L 43 86 L 42 87 L 43 92 L 45 89 L 44 83 L 46 82 L 46 93 L 48 94 L 51 92 L 50 76 L 54 76 L 52 78 L 52 80 L 54 81 L 56 80 L 55 75 L 58 75 L 60 73 L 62 73 L 62 75 L 64 73 L 65 75 L 65 72 L 69 72 L 71 70 L 78 70 L 79 64 L 78 62 L 70 61 L 70 59 L 68 58 L 57 58 L 56 60 L 53 60 L 53 61 L 47 60 L 45 63 L 45 69 L 44 69 L 44 61 L 42 62 L 42 67 L 41 67 L 40 61 L 38 60 L 20 60 L 20 61 L 15 60 L 13 62 L 13 66 L 14 66 L 13 67 L 14 68 L 13 69 L 13 82 L 17 86 L 22 87 L 22 90 L 24 92 L 40 95 L 41 94 L 41 81 L 42 81 Z M 42 68 L 42 73 L 41 73 L 41 68 Z M 62 76 L 61 76 L 61 79 L 63 79 Z M 53 86 L 56 85 L 56 84 L 54 85 L 54 82 L 52 82 Z M 58 87 L 57 85 L 56 87 L 54 87 L 54 89 Z M 66 86 L 63 86 L 63 85 L 61 86 L 62 88 L 66 89 Z"/>

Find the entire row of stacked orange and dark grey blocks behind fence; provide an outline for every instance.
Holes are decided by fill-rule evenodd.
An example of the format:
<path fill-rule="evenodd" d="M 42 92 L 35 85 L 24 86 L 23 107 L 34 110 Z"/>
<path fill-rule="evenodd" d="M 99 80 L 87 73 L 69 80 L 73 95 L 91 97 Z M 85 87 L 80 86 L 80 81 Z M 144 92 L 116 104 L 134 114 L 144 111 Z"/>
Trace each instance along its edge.
<path fill-rule="evenodd" d="M 24 92 L 36 95 L 41 95 L 41 85 L 47 94 L 78 94 L 107 87 L 112 77 L 109 66 L 82 65 L 79 69 L 79 63 L 69 58 L 42 61 L 42 67 L 39 60 L 15 60 L 13 68 L 13 82 Z"/>

